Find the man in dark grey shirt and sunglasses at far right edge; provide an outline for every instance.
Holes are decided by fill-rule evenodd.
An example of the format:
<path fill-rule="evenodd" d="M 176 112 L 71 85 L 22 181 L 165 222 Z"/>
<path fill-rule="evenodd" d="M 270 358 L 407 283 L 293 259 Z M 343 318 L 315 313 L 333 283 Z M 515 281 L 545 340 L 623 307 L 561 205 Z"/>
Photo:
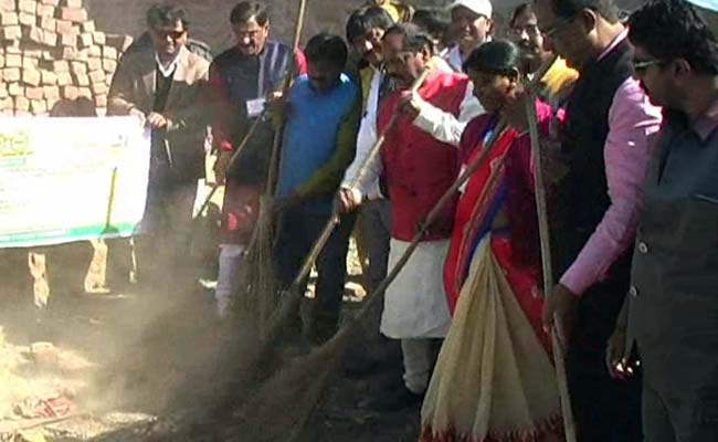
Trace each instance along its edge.
<path fill-rule="evenodd" d="M 665 109 L 627 320 L 652 442 L 718 441 L 718 38 L 708 24 L 718 2 L 691 2 L 705 9 L 652 0 L 629 21 L 635 75 Z M 611 368 L 624 368 L 626 351 L 615 356 Z"/>

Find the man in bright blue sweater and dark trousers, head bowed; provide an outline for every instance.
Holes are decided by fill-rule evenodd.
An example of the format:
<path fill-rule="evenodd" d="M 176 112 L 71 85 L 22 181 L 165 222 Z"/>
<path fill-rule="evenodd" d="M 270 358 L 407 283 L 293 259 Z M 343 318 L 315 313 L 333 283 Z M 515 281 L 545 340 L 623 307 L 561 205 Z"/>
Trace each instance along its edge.
<path fill-rule="evenodd" d="M 296 277 L 332 211 L 335 194 L 356 154 L 361 92 L 342 73 L 347 46 L 336 35 L 318 34 L 307 43 L 307 75 L 286 98 L 286 126 L 277 182 L 281 215 L 275 250 L 282 285 Z M 336 332 L 346 277 L 345 257 L 355 215 L 341 223 L 319 255 L 316 302 L 308 337 L 315 343 Z M 297 333 L 302 323 L 297 312 Z"/>

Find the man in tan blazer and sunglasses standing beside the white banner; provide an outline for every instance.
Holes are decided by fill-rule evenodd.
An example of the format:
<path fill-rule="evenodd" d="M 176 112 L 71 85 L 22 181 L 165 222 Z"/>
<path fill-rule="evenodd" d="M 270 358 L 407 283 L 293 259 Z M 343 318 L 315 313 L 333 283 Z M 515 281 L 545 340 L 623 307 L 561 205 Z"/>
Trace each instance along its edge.
<path fill-rule="evenodd" d="M 149 186 L 141 238 L 136 238 L 139 278 L 167 292 L 183 283 L 197 183 L 204 176 L 207 113 L 200 91 L 209 62 L 187 50 L 189 19 L 170 3 L 147 12 L 151 46 L 126 54 L 113 78 L 108 115 L 134 115 L 151 130 Z M 171 272 L 170 272 L 171 271 Z"/>

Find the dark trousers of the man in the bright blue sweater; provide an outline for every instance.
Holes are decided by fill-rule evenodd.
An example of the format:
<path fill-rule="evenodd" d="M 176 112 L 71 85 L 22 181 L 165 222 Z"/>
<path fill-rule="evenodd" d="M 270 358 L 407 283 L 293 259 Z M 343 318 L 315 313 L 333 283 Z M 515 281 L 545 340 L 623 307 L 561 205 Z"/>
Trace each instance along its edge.
<path fill-rule="evenodd" d="M 336 327 L 347 276 L 347 251 L 356 213 L 345 213 L 316 262 L 318 272 L 313 320 Z M 279 283 L 288 287 L 296 278 L 312 246 L 321 234 L 329 212 L 313 201 L 287 209 L 277 225 L 275 264 Z M 306 282 L 305 282 L 306 284 Z"/>

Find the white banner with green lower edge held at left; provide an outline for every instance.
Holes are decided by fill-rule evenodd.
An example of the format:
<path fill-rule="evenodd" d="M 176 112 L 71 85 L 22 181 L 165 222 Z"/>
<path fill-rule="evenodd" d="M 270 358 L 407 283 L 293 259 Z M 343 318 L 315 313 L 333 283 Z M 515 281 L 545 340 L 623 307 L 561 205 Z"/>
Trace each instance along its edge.
<path fill-rule="evenodd" d="M 0 248 L 131 235 L 149 155 L 134 117 L 0 118 Z"/>

